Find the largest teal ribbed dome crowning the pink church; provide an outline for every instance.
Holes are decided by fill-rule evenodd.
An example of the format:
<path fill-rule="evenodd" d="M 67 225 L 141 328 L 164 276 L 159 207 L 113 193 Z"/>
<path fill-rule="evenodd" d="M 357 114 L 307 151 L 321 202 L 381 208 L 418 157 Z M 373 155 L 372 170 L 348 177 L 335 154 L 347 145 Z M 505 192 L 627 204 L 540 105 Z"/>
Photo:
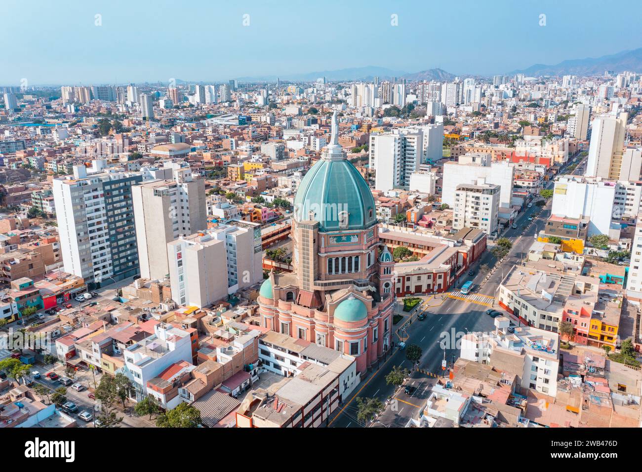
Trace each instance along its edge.
<path fill-rule="evenodd" d="M 297 190 L 294 211 L 297 221 L 317 220 L 320 231 L 365 229 L 376 222 L 370 188 L 345 159 L 320 159 L 312 166 Z M 339 226 L 340 211 L 348 212 L 347 226 Z"/>

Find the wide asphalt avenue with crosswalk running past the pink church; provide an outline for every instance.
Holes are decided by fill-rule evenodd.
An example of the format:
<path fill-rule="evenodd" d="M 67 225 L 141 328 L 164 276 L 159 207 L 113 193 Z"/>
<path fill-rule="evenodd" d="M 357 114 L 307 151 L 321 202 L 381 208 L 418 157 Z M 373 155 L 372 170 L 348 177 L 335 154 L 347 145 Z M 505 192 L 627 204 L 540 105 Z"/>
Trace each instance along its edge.
<path fill-rule="evenodd" d="M 553 182 L 549 182 L 546 188 L 553 188 Z M 485 311 L 490 307 L 503 311 L 494 303 L 499 284 L 513 265 L 526 259 L 527 250 L 535 240 L 537 233 L 544 228 L 546 218 L 550 216 L 551 200 L 548 200 L 544 207 L 537 205 L 527 207 L 516 220 L 517 228 L 509 228 L 502 234 L 502 237 L 508 238 L 513 246 L 508 256 L 499 265 L 490 250 L 487 250 L 482 258 L 474 263 L 472 268 L 476 274 L 472 277 L 475 287 L 473 293 L 461 295 L 458 291 L 465 281 L 471 279 L 471 277 L 465 276 L 460 277 L 456 286 L 444 299 L 442 299 L 442 295 L 424 297 L 425 301 L 422 305 L 423 307 L 428 306 L 425 311 L 426 319 L 417 320 L 417 313 L 421 311 L 415 310 L 412 315 L 412 324 L 408 326 L 406 331 L 408 335 L 406 344 L 417 344 L 422 348 L 422 357 L 417 366 L 419 369 L 432 372 L 437 376 L 442 375 L 444 356 L 448 365 L 451 365 L 459 356 L 456 340 L 460 339 L 467 331 L 491 331 L 494 329 L 493 319 L 486 315 Z M 541 213 L 535 217 L 534 214 L 539 211 Z M 529 220 L 528 218 L 533 219 Z M 480 272 L 479 270 L 483 266 L 488 267 L 492 272 L 486 281 L 484 279 L 488 272 Z M 423 310 L 423 308 L 418 310 Z M 400 321 L 394 326 L 394 329 L 399 330 L 406 321 L 407 319 Z M 439 344 L 440 341 L 453 339 L 455 343 L 447 343 L 444 352 Z M 399 337 L 395 336 L 395 342 L 398 340 Z M 412 385 L 412 392 L 410 394 L 404 393 L 403 387 L 395 392 L 394 387 L 386 385 L 385 381 L 386 374 L 395 365 L 408 370 L 413 367 L 410 361 L 406 360 L 405 351 L 395 349 L 383 365 L 358 386 L 356 392 L 340 408 L 339 413 L 331 419 L 329 426 L 334 428 L 365 426 L 357 419 L 356 397 L 379 398 L 382 402 L 386 402 L 388 398 L 392 399 L 386 405 L 384 412 L 379 415 L 377 421 L 372 424 L 373 427 L 403 427 L 411 418 L 416 418 L 419 410 L 426 403 L 430 387 L 434 385 L 435 379 L 428 374 L 414 371 L 406 381 Z"/>

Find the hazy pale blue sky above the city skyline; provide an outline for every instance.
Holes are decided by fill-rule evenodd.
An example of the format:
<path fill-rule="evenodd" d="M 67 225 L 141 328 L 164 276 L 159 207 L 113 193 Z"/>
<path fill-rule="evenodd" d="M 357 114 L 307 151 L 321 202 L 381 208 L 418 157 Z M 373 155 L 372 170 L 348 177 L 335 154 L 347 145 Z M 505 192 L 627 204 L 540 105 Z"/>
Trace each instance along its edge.
<path fill-rule="evenodd" d="M 642 46 L 629 0 L 2 0 L 0 15 L 0 85 L 361 66 L 490 75 Z"/>

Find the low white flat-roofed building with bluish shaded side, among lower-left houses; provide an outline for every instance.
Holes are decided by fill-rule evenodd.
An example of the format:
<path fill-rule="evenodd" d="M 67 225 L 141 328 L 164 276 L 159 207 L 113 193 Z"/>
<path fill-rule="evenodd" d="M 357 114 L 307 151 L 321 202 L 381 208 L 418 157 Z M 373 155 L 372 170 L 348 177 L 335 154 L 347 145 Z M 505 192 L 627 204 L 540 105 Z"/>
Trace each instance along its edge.
<path fill-rule="evenodd" d="M 136 401 L 140 401 L 147 394 L 148 380 L 174 363 L 192 363 L 191 338 L 184 329 L 160 323 L 154 326 L 153 335 L 127 347 L 123 356 L 122 372 L 132 381 Z"/>

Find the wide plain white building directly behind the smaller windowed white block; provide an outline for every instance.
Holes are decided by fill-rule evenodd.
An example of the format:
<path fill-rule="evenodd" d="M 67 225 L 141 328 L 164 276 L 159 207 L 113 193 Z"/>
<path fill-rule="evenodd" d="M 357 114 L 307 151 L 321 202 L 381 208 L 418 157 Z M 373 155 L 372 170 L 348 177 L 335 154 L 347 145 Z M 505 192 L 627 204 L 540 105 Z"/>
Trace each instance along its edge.
<path fill-rule="evenodd" d="M 492 162 L 490 154 L 466 153 L 460 155 L 459 162 L 444 163 L 442 177 L 442 202 L 451 208 L 455 206 L 455 190 L 459 184 L 471 184 L 485 179 L 488 184 L 499 186 L 499 205 L 510 207 L 515 180 L 515 164 L 512 162 Z"/>

